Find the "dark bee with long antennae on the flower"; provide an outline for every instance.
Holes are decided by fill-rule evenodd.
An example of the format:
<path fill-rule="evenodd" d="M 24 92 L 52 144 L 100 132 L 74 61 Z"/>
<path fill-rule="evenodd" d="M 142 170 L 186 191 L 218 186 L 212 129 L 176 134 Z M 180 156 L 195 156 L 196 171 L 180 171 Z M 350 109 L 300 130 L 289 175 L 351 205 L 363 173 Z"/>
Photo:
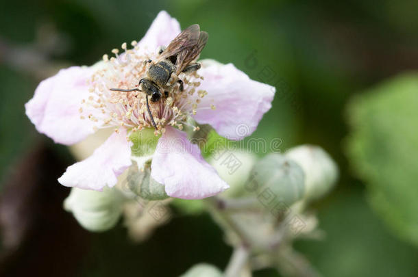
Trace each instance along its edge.
<path fill-rule="evenodd" d="M 192 72 L 200 68 L 201 65 L 195 62 L 195 59 L 202 49 L 204 49 L 206 42 L 208 42 L 208 37 L 206 31 L 200 31 L 198 24 L 189 26 L 178 34 L 167 48 L 158 51 L 159 55 L 155 62 L 152 60 L 146 61 L 151 66 L 147 70 L 147 77 L 139 80 L 138 86 L 142 90 L 139 88 L 129 90 L 111 88 L 110 90 L 119 92 L 145 92 L 147 94 L 148 114 L 153 127 L 157 129 L 156 122 L 149 109 L 149 96 L 151 96 L 151 102 L 153 103 L 160 101 L 163 96 L 167 98 L 169 96 L 168 91 L 176 83 L 179 83 L 180 90 L 183 91 L 184 84 L 178 78 L 178 75 L 181 72 Z"/>

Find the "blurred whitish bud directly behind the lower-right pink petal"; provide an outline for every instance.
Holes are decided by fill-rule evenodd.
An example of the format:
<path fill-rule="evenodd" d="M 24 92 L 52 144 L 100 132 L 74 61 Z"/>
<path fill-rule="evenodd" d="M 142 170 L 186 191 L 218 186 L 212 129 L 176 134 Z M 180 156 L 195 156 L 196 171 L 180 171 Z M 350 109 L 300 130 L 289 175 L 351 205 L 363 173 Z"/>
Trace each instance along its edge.
<path fill-rule="evenodd" d="M 240 194 L 256 161 L 256 155 L 242 150 L 225 150 L 217 159 L 214 156 L 210 157 L 210 165 L 217 170 L 223 181 L 230 185 L 230 189 L 222 193 L 223 196 Z"/>

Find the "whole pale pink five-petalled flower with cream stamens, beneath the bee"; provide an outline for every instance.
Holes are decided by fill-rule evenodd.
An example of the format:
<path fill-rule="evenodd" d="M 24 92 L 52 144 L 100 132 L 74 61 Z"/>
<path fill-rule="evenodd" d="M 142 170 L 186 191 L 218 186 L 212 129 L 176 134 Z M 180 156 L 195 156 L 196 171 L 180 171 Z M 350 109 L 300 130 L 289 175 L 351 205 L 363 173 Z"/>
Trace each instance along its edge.
<path fill-rule="evenodd" d="M 133 132 L 152 128 L 143 92 L 114 92 L 110 88 L 135 88 L 145 77 L 157 49 L 167 46 L 180 33 L 179 23 L 160 12 L 140 42 L 132 49 L 87 66 L 73 66 L 42 81 L 25 105 L 26 114 L 40 133 L 56 143 L 71 145 L 103 128 L 115 128 L 93 155 L 79 161 L 58 179 L 65 186 L 101 191 L 132 165 Z M 241 140 L 257 127 L 271 107 L 275 88 L 249 79 L 233 64 L 201 61 L 197 72 L 182 73 L 184 91 L 173 85 L 169 96 L 150 102 L 159 137 L 152 156 L 151 177 L 164 185 L 169 196 L 198 199 L 228 188 L 216 170 L 202 157 L 199 147 L 182 131 L 190 118 L 210 124 L 224 137 Z M 246 132 L 237 132 L 245 124 Z M 197 126 L 191 126 L 194 130 Z"/>

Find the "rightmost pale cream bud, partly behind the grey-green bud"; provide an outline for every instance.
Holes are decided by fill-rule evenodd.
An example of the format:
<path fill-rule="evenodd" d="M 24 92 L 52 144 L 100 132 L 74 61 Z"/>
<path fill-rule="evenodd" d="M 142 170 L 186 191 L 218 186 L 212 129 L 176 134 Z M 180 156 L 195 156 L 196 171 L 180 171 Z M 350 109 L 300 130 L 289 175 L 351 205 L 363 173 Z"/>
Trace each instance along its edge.
<path fill-rule="evenodd" d="M 319 146 L 297 146 L 288 150 L 286 157 L 299 163 L 305 172 L 307 200 L 314 200 L 326 194 L 338 179 L 336 163 Z"/>

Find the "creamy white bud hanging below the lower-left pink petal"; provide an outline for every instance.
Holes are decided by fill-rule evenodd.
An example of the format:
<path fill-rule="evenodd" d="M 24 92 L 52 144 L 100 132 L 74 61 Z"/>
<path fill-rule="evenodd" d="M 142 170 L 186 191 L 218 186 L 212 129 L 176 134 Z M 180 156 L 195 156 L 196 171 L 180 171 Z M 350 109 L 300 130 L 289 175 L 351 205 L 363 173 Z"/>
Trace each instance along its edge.
<path fill-rule="evenodd" d="M 115 188 L 106 187 L 103 192 L 73 187 L 64 200 L 64 209 L 73 213 L 81 226 L 92 232 L 109 230 L 119 220 L 123 208 L 123 196 Z"/>

